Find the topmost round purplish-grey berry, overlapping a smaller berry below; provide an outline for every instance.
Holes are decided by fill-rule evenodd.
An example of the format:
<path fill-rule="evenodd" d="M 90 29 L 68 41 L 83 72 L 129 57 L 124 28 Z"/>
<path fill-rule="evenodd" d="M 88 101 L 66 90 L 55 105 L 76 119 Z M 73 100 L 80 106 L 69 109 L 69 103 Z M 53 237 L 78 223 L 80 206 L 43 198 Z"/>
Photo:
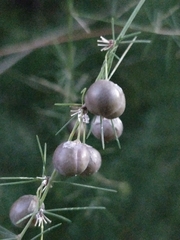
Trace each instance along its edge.
<path fill-rule="evenodd" d="M 108 119 L 119 117 L 126 107 L 126 99 L 121 87 L 108 80 L 93 83 L 85 95 L 88 111 Z"/>

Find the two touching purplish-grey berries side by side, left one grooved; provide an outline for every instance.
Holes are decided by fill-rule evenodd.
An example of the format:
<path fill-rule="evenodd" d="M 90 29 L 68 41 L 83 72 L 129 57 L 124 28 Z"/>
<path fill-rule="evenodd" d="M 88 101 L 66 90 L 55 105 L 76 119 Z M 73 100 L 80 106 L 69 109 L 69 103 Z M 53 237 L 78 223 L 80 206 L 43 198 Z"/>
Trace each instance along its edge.
<path fill-rule="evenodd" d="M 61 143 L 53 155 L 54 168 L 64 176 L 91 175 L 101 166 L 101 155 L 78 140 Z"/>

